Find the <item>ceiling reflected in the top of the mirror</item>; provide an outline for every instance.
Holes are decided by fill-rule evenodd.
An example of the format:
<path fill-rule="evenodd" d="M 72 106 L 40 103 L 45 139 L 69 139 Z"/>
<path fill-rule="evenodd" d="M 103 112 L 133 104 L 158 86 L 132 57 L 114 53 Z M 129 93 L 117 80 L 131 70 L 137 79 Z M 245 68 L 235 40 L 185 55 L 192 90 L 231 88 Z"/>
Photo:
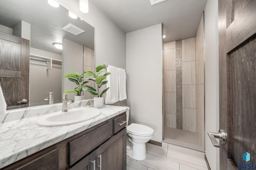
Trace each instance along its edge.
<path fill-rule="evenodd" d="M 47 0 L 1 0 L 0 25 L 13 28 L 21 20 L 30 23 L 30 46 L 36 49 L 62 54 L 52 43 L 70 41 L 94 49 L 94 27 L 79 18 L 72 19 L 62 6 L 54 8 Z M 72 23 L 85 32 L 73 35 L 62 27 Z"/>

